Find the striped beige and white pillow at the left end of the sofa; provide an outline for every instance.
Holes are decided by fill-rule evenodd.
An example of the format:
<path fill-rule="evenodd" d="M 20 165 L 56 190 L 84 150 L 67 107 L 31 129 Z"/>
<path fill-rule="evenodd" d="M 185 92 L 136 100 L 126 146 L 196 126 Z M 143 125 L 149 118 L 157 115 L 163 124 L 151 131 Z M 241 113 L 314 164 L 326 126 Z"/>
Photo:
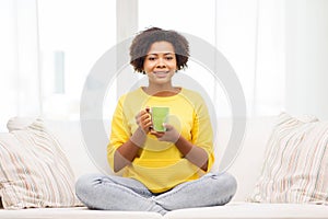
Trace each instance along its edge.
<path fill-rule="evenodd" d="M 0 134 L 0 196 L 5 209 L 81 205 L 69 161 L 42 119 Z"/>

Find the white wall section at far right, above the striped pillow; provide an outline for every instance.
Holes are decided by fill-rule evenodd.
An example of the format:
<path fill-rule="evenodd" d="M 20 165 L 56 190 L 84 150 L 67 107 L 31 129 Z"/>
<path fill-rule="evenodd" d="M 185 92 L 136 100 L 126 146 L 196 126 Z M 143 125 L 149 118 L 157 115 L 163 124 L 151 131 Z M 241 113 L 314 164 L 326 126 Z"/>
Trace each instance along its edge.
<path fill-rule="evenodd" d="M 328 1 L 286 1 L 286 112 L 328 119 Z"/>

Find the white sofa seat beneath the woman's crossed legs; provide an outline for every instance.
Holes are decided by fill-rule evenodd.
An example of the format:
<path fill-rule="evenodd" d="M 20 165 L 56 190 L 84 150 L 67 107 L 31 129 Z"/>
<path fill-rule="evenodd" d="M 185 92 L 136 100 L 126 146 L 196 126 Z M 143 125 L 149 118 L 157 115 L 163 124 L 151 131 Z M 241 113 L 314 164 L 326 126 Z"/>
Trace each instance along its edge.
<path fill-rule="evenodd" d="M 328 207 L 300 204 L 230 203 L 226 206 L 189 208 L 167 212 L 108 211 L 77 208 L 0 210 L 1 219 L 327 219 Z"/>

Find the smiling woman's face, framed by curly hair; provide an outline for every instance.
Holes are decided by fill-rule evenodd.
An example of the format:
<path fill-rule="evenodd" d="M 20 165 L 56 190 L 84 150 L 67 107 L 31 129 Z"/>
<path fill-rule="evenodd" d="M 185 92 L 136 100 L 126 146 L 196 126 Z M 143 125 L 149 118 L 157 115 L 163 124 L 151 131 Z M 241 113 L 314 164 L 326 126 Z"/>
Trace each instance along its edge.
<path fill-rule="evenodd" d="M 143 70 L 150 83 L 171 83 L 177 69 L 174 47 L 168 42 L 155 42 L 151 45 L 143 62 Z"/>

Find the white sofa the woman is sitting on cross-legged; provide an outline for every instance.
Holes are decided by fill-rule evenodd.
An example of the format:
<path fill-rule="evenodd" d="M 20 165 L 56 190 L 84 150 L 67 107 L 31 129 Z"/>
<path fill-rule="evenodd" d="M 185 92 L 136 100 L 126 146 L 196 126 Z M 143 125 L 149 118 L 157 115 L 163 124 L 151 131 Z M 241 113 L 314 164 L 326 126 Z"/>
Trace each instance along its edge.
<path fill-rule="evenodd" d="M 313 204 L 258 204 L 247 203 L 247 196 L 251 194 L 257 177 L 260 174 L 263 162 L 263 154 L 267 140 L 276 117 L 258 117 L 247 119 L 245 138 L 239 152 L 232 163 L 229 172 L 232 173 L 238 183 L 236 195 L 226 206 L 190 208 L 169 211 L 165 216 L 155 212 L 142 211 L 103 211 L 89 210 L 85 207 L 74 208 L 32 208 L 22 210 L 0 209 L 1 219 L 15 218 L 142 218 L 142 219 L 210 219 L 210 218 L 328 218 L 328 206 Z M 67 120 L 46 120 L 47 127 L 57 137 L 70 164 L 74 171 L 75 177 L 85 173 L 101 172 L 98 163 L 94 163 L 89 155 L 89 150 L 84 146 L 84 140 L 80 129 L 79 122 Z M 108 124 L 105 124 L 107 126 Z M 224 152 L 224 147 L 231 135 L 231 120 L 220 118 L 218 122 L 218 150 L 216 163 L 214 169 L 220 165 L 220 160 Z M 104 146 L 106 148 L 106 146 Z M 104 154 L 106 151 L 104 151 Z M 102 164 L 101 164 L 102 165 Z"/>

